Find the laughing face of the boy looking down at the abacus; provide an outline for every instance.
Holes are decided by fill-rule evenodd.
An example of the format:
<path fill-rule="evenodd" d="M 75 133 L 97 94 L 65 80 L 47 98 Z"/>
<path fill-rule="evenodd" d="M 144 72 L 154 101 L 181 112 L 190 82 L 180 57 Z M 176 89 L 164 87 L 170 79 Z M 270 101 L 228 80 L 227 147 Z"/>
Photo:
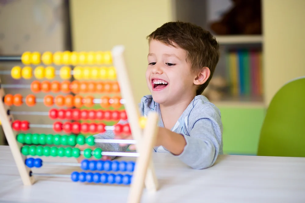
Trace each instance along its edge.
<path fill-rule="evenodd" d="M 181 48 L 150 41 L 146 81 L 155 102 L 173 105 L 189 100 L 194 94 L 195 75 L 190 73 L 191 65 L 186 62 L 186 56 Z"/>

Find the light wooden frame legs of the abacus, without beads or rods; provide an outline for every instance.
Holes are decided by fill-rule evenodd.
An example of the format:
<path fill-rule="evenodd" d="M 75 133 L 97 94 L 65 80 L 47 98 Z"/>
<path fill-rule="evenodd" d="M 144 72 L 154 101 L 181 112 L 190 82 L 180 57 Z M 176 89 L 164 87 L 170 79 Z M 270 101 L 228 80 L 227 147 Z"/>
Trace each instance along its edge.
<path fill-rule="evenodd" d="M 158 115 L 153 112 L 150 113 L 144 131 L 142 131 L 139 124 L 140 114 L 138 105 L 135 103 L 124 61 L 124 46 L 115 46 L 111 52 L 113 65 L 117 70 L 117 81 L 120 85 L 121 96 L 122 99 L 125 100 L 124 107 L 130 124 L 131 135 L 136 140 L 136 151 L 139 153 L 127 199 L 128 203 L 137 203 L 141 200 L 144 185 L 148 191 L 156 191 L 158 189 L 158 181 L 152 162 L 152 148 L 156 142 L 156 134 L 158 131 Z M 2 88 L 0 89 L 0 96 L 1 98 L 5 96 Z M 13 122 L 14 119 L 12 115 L 7 115 L 7 110 L 9 110 L 9 107 L 0 100 L 0 119 L 2 128 L 7 142 L 9 143 L 20 177 L 24 185 L 32 185 L 35 182 L 35 178 L 34 176 L 30 176 L 30 168 L 25 165 L 26 156 L 20 152 L 22 144 L 17 142 L 16 135 L 11 127 L 11 122 Z"/>

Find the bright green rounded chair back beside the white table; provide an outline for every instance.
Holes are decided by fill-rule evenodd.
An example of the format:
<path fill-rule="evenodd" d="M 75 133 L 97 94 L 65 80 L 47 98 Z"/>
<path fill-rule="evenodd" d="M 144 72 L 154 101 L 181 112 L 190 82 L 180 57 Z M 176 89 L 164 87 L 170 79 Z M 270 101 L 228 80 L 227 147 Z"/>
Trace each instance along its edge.
<path fill-rule="evenodd" d="M 305 77 L 286 83 L 271 100 L 257 155 L 305 157 Z"/>

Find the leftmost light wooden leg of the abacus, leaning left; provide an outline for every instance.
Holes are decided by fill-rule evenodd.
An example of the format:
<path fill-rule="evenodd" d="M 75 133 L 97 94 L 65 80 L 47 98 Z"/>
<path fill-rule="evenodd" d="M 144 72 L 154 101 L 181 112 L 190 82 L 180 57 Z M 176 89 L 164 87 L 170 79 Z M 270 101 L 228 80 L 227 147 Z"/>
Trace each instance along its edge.
<path fill-rule="evenodd" d="M 1 88 L 0 98 L 3 98 L 4 95 L 5 95 L 4 90 Z M 33 176 L 30 177 L 30 169 L 25 165 L 25 156 L 23 156 L 20 152 L 20 148 L 22 145 L 17 143 L 16 136 L 14 135 L 13 129 L 10 124 L 10 118 L 12 118 L 13 121 L 13 117 L 7 115 L 7 110 L 5 109 L 5 105 L 2 99 L 0 99 L 0 120 L 2 122 L 2 128 L 6 140 L 9 143 L 9 147 L 15 159 L 15 163 L 17 165 L 23 184 L 32 185 L 35 182 L 35 179 Z"/>

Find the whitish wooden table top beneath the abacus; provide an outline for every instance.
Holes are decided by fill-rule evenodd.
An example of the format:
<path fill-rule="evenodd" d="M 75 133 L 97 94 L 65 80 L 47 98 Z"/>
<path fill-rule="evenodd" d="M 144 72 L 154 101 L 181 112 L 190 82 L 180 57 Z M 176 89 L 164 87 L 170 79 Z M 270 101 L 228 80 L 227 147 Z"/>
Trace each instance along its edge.
<path fill-rule="evenodd" d="M 69 178 L 37 177 L 23 186 L 8 146 L 0 146 L 0 202 L 126 202 L 129 186 L 75 183 Z M 70 158 L 44 157 L 45 161 Z M 305 202 L 305 158 L 229 156 L 194 170 L 169 153 L 154 153 L 160 189 L 143 191 L 142 202 Z M 79 167 L 43 166 L 33 172 L 70 174 Z"/>

